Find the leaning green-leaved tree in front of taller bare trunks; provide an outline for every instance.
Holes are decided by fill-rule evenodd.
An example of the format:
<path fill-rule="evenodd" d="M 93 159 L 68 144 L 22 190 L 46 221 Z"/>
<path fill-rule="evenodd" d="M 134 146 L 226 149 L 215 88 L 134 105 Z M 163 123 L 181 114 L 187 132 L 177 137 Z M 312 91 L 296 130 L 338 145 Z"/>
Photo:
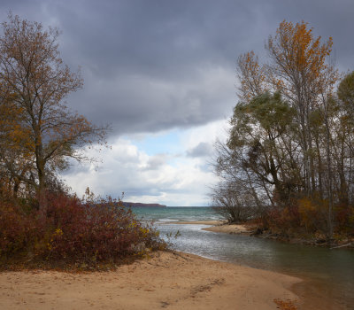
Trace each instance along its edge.
<path fill-rule="evenodd" d="M 265 93 L 235 106 L 227 146 L 242 149 L 242 169 L 254 175 L 263 189 L 289 203 L 300 180 L 294 172 L 292 145 L 295 111 L 279 93 Z M 234 152 L 235 153 L 235 152 Z M 273 198 L 270 199 L 273 205 Z"/>

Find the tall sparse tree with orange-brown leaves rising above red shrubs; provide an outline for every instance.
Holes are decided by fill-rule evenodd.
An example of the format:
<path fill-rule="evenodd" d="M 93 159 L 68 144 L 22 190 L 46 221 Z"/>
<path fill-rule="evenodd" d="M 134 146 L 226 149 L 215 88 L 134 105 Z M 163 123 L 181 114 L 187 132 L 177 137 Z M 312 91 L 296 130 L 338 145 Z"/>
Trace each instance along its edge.
<path fill-rule="evenodd" d="M 6 100 L 0 105 L 14 115 L 6 113 L 12 130 L 0 128 L 2 145 L 12 145 L 11 152 L 2 149 L 1 161 L 12 177 L 41 196 L 50 173 L 64 168 L 68 158 L 87 159 L 80 147 L 103 141 L 105 128 L 64 105 L 69 93 L 81 89 L 82 79 L 60 58 L 58 29 L 44 30 L 12 14 L 2 27 L 0 93 Z"/>

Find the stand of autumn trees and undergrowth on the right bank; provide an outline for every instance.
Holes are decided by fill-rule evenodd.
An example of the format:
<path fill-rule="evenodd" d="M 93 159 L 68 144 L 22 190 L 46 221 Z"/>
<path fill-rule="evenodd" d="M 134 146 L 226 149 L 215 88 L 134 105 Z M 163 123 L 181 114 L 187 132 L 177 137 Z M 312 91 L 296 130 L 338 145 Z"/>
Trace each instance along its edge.
<path fill-rule="evenodd" d="M 239 103 L 213 164 L 229 222 L 327 243 L 354 235 L 354 73 L 339 73 L 332 46 L 284 20 L 264 63 L 238 58 Z"/>

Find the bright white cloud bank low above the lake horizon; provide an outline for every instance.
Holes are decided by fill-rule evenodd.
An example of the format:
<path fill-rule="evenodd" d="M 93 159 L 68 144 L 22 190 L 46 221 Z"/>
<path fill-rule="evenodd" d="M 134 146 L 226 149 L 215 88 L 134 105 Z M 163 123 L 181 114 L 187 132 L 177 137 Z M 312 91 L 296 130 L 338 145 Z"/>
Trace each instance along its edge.
<path fill-rule="evenodd" d="M 208 205 L 208 186 L 216 182 L 215 176 L 211 169 L 205 168 L 204 158 L 188 157 L 187 150 L 189 145 L 201 142 L 211 144 L 211 139 L 218 132 L 215 131 L 217 127 L 211 124 L 210 127 L 181 132 L 183 138 L 178 154 L 166 150 L 165 153 L 148 155 L 135 145 L 134 140 L 118 138 L 112 141 L 112 149 L 106 149 L 100 154 L 89 150 L 89 156 L 100 156 L 103 159 L 99 167 L 92 164 L 73 167 L 63 177 L 79 196 L 89 186 L 96 195 L 103 197 L 111 195 L 117 198 L 124 191 L 126 201 Z M 199 135 L 202 132 L 209 135 Z M 196 141 L 192 143 L 193 139 Z"/>

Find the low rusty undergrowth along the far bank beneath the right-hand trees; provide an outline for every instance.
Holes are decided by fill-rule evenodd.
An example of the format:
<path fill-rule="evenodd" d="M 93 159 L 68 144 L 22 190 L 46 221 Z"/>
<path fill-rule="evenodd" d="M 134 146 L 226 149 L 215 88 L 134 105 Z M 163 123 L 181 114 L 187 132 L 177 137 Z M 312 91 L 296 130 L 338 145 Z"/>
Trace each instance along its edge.
<path fill-rule="evenodd" d="M 241 201 L 242 192 L 239 191 L 237 194 L 235 197 Z M 214 201 L 218 202 L 216 199 Z M 294 198 L 289 200 L 288 205 L 276 202 L 273 206 L 263 209 L 257 208 L 250 196 L 241 204 L 231 199 L 226 202 L 231 203 L 229 205 L 219 204 L 214 207 L 214 210 L 228 223 L 255 224 L 259 231 L 266 230 L 272 236 L 327 240 L 328 202 L 326 200 Z M 332 221 L 335 227 L 333 239 L 339 241 L 354 238 L 354 207 L 352 205 L 335 204 Z"/>

